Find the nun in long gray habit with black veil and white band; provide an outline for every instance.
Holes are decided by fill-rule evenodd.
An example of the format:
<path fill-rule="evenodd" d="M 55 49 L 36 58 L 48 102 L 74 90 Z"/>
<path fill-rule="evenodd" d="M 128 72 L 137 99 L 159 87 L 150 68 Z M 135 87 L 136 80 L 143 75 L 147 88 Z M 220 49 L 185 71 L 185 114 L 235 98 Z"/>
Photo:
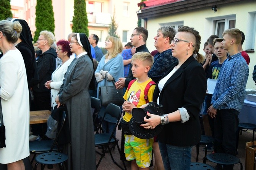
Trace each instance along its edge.
<path fill-rule="evenodd" d="M 66 105 L 71 134 L 68 152 L 69 170 L 95 170 L 96 155 L 89 89 L 95 90 L 91 47 L 83 33 L 76 33 L 70 42 L 76 58 L 71 62 L 55 101 Z"/>

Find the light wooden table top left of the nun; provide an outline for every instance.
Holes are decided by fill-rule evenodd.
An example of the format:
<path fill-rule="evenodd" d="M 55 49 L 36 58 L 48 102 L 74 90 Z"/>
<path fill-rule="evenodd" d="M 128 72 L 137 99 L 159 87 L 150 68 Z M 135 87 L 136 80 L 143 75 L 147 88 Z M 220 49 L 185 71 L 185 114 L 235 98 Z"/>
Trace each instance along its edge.
<path fill-rule="evenodd" d="M 30 111 L 29 124 L 37 124 L 37 123 L 46 123 L 51 111 L 50 110 L 38 110 L 38 111 Z"/>

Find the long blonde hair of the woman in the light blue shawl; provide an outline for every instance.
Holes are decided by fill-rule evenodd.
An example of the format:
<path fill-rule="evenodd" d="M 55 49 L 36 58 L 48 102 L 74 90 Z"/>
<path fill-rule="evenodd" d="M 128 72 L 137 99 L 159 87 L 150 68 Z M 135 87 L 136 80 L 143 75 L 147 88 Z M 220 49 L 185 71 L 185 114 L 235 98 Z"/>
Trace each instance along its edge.
<path fill-rule="evenodd" d="M 117 37 L 109 37 L 109 40 L 112 42 L 112 51 L 108 51 L 105 55 L 105 58 L 108 58 L 110 56 L 111 59 L 117 57 L 117 55 L 123 51 L 123 45 L 120 39 L 118 39 Z"/>

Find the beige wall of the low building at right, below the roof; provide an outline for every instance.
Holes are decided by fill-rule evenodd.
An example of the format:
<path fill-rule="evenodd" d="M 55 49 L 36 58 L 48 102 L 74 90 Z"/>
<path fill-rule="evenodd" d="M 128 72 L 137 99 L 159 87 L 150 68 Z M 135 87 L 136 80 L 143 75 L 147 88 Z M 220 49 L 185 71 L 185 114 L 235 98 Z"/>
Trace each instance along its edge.
<path fill-rule="evenodd" d="M 243 49 L 246 50 L 251 45 L 250 39 L 252 39 L 252 30 L 253 21 L 251 19 L 251 14 L 256 13 L 256 1 L 254 2 L 241 2 L 235 3 L 235 5 L 217 5 L 217 12 L 211 10 L 211 8 L 204 8 L 201 10 L 188 11 L 186 13 L 175 14 L 171 16 L 164 16 L 160 18 L 149 18 L 147 20 L 147 29 L 149 31 L 149 37 L 147 39 L 147 47 L 149 51 L 155 50 L 154 47 L 154 36 L 157 34 L 157 29 L 160 27 L 160 23 L 172 23 L 177 21 L 184 21 L 184 25 L 194 27 L 197 31 L 199 31 L 201 35 L 201 45 L 199 53 L 203 52 L 203 45 L 206 42 L 207 38 L 214 34 L 215 26 L 212 22 L 211 18 L 235 15 L 236 19 L 236 28 L 240 29 L 245 33 L 245 42 L 243 44 Z M 254 22 L 256 18 L 254 18 Z M 254 23 L 256 24 L 256 23 Z M 255 36 L 255 33 L 254 33 Z M 256 37 L 254 37 L 256 40 Z M 254 46 L 254 50 L 256 50 L 256 41 L 252 45 Z M 249 64 L 249 78 L 246 85 L 247 89 L 256 89 L 255 83 L 252 79 L 253 67 L 256 65 L 256 52 L 248 53 L 250 56 L 250 64 Z"/>

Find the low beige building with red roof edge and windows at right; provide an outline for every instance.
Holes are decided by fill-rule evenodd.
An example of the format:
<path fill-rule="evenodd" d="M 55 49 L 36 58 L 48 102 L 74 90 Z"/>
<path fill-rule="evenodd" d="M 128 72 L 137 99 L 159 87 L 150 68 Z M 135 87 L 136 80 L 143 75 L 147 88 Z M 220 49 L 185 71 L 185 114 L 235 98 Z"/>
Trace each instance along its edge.
<path fill-rule="evenodd" d="M 147 0 L 139 3 L 143 8 L 138 18 L 143 19 L 149 31 L 147 47 L 155 50 L 153 38 L 160 26 L 175 29 L 186 25 L 195 28 L 201 35 L 199 53 L 204 55 L 204 42 L 211 35 L 221 34 L 229 28 L 238 28 L 245 33 L 243 50 L 250 56 L 247 89 L 256 89 L 252 79 L 256 65 L 256 1 L 255 0 Z"/>

